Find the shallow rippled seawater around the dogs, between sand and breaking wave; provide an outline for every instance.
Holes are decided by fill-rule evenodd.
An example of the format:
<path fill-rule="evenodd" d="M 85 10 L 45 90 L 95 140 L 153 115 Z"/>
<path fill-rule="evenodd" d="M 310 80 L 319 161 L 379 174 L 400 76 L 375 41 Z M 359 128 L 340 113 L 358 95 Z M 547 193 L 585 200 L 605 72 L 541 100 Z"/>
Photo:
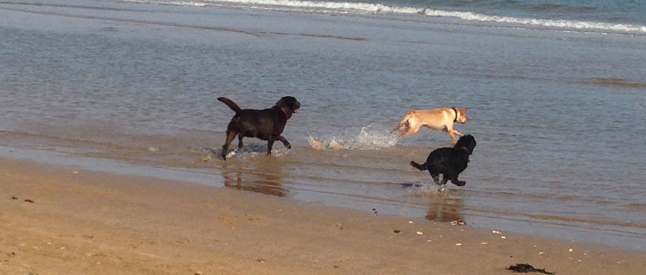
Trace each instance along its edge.
<path fill-rule="evenodd" d="M 643 35 L 411 14 L 48 1 L 0 3 L 0 37 L 6 148 L 646 250 Z M 232 159 L 216 159 L 233 115 L 218 96 L 265 108 L 285 95 L 302 103 L 283 133 L 292 150 L 276 144 L 265 157 L 266 144 L 247 139 Z M 467 185 L 437 192 L 408 163 L 450 146 L 449 137 L 422 129 L 394 144 L 388 132 L 411 109 L 454 105 L 469 108 L 456 129 L 478 146 L 460 175 Z M 342 148 L 315 151 L 313 140 Z"/>

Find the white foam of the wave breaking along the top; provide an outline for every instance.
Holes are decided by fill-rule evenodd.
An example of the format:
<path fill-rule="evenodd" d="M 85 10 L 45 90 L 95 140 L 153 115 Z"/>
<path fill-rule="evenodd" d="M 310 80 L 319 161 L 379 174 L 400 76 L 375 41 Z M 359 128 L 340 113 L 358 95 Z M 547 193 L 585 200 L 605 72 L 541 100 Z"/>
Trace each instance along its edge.
<path fill-rule="evenodd" d="M 133 3 L 156 3 L 164 5 L 190 5 L 203 7 L 207 5 L 246 5 L 248 8 L 278 7 L 271 10 L 302 11 L 311 12 L 320 10 L 337 11 L 341 13 L 390 13 L 390 14 L 424 14 L 430 17 L 451 17 L 468 21 L 481 21 L 493 23 L 511 23 L 529 25 L 543 28 L 559 28 L 567 30 L 599 30 L 605 32 L 620 32 L 631 34 L 646 34 L 646 25 L 616 24 L 590 21 L 572 21 L 557 19 L 533 19 L 520 17 L 500 17 L 495 15 L 478 14 L 475 12 L 453 12 L 447 10 L 435 10 L 432 8 L 414 8 L 383 5 L 379 3 L 348 3 L 330 1 L 298 1 L 298 0 L 201 0 L 201 1 L 172 1 L 172 0 L 125 0 Z M 282 7 L 282 8 L 280 8 Z M 267 8 L 260 8 L 267 10 Z"/>

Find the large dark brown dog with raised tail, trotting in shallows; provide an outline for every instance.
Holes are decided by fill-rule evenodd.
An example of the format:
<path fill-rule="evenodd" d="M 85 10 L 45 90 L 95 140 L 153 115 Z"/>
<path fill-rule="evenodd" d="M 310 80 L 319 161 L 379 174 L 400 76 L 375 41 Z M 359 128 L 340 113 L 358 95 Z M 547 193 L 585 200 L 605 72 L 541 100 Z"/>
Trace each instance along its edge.
<path fill-rule="evenodd" d="M 300 108 L 300 102 L 293 96 L 280 98 L 274 107 L 264 110 L 240 109 L 238 104 L 225 97 L 218 100 L 236 112 L 227 126 L 227 140 L 222 146 L 222 159 L 227 159 L 227 148 L 236 135 L 238 135 L 238 148 L 243 146 L 243 137 L 267 140 L 267 155 L 271 155 L 271 147 L 276 140 L 280 140 L 285 147 L 291 148 L 289 142 L 280 134 L 285 129 L 287 120 L 293 113 L 298 113 Z"/>

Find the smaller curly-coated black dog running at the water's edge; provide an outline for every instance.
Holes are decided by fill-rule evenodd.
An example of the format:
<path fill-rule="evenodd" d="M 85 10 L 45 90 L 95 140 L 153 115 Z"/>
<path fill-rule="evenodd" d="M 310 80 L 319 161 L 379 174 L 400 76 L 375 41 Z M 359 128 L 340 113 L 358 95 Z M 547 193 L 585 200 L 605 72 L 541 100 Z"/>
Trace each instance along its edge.
<path fill-rule="evenodd" d="M 456 186 L 465 186 L 467 183 L 458 180 L 458 175 L 467 168 L 469 155 L 474 153 L 475 147 L 476 139 L 474 136 L 465 135 L 460 137 L 460 140 L 453 148 L 437 148 L 432 151 L 424 164 L 410 162 L 410 165 L 419 170 L 428 170 L 435 184 L 440 184 L 440 174 L 443 174 L 442 185 L 447 184 L 450 179 Z"/>

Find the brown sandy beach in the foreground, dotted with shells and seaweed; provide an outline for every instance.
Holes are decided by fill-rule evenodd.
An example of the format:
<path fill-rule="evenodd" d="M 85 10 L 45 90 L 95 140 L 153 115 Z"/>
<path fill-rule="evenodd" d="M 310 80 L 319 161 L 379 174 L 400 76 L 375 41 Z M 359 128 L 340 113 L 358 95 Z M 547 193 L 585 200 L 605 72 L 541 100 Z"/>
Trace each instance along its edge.
<path fill-rule="evenodd" d="M 0 274 L 486 275 L 516 263 L 645 274 L 646 253 L 0 159 Z"/>

